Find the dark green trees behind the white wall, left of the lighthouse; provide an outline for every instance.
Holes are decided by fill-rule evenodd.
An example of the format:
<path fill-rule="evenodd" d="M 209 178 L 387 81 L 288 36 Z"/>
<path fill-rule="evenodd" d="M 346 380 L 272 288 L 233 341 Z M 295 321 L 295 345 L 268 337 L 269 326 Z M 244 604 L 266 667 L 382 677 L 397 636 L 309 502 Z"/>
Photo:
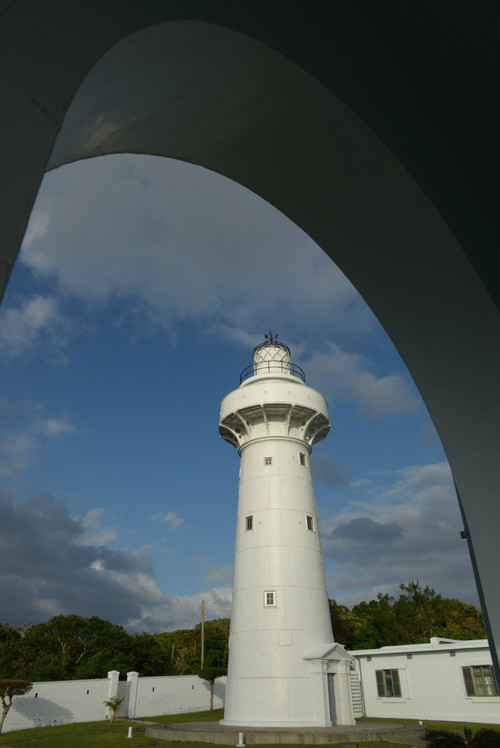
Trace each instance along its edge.
<path fill-rule="evenodd" d="M 205 661 L 227 667 L 229 619 L 205 623 Z M 130 634 L 97 616 L 55 616 L 24 628 L 0 624 L 0 678 L 32 681 L 197 675 L 201 663 L 201 624 L 161 634 Z"/>

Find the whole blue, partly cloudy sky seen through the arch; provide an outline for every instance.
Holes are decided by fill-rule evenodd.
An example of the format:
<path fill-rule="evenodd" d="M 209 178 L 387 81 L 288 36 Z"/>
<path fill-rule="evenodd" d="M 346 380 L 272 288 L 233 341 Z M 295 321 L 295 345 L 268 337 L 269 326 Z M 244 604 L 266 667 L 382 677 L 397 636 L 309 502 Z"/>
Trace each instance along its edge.
<path fill-rule="evenodd" d="M 329 402 L 311 464 L 330 597 L 418 578 L 477 604 L 440 442 L 349 281 L 239 185 L 125 155 L 45 177 L 0 308 L 3 620 L 229 615 L 218 408 L 269 329 Z"/>

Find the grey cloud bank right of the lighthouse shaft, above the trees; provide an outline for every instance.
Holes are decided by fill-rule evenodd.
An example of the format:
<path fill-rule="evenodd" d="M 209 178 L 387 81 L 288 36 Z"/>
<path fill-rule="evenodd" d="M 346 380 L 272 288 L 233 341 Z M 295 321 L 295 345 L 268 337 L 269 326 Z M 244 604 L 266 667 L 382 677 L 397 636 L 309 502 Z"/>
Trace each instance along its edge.
<path fill-rule="evenodd" d="M 419 579 L 477 603 L 451 472 L 446 463 L 372 476 L 347 508 L 321 522 L 331 595 L 347 604 Z"/>

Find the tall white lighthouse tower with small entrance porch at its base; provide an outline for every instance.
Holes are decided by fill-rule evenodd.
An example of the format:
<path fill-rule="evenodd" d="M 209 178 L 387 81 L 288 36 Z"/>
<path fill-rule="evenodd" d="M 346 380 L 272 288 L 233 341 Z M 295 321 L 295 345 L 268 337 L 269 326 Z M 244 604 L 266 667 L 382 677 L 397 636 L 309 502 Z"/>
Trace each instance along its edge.
<path fill-rule="evenodd" d="M 219 424 L 241 457 L 222 723 L 352 725 L 352 658 L 332 635 L 309 462 L 327 404 L 276 336 L 253 359 Z"/>

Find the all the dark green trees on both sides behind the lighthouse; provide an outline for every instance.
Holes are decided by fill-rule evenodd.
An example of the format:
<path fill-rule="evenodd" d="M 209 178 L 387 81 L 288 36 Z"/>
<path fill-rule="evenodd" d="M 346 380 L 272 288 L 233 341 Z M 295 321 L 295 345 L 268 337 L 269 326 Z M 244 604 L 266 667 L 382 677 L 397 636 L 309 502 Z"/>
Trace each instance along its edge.
<path fill-rule="evenodd" d="M 401 584 L 399 594 L 379 594 L 352 609 L 330 600 L 335 640 L 347 649 L 419 644 L 431 636 L 483 639 L 481 613 L 460 600 L 443 598 L 419 582 Z M 229 619 L 205 623 L 205 666 L 227 668 Z M 25 627 L 0 624 L 0 678 L 30 681 L 197 675 L 201 668 L 201 624 L 159 634 L 130 634 L 97 616 L 55 616 Z M 205 673 L 206 674 L 206 673 Z"/>

